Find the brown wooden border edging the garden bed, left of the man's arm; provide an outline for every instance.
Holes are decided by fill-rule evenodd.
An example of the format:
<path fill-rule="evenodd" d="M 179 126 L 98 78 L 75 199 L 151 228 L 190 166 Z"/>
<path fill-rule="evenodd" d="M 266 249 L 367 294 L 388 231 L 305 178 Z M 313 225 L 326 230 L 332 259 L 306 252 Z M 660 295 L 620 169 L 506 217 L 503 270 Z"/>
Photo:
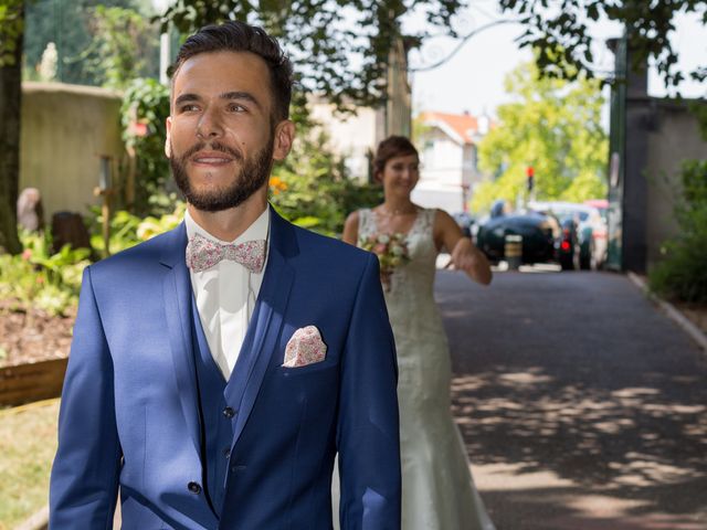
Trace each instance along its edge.
<path fill-rule="evenodd" d="M 59 398 L 67 361 L 63 358 L 0 368 L 0 406 Z"/>

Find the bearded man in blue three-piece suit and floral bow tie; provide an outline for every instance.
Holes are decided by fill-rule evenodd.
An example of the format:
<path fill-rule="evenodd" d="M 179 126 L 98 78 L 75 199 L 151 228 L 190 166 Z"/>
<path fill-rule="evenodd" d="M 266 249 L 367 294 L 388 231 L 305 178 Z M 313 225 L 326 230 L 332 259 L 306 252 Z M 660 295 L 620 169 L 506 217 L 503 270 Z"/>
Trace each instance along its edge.
<path fill-rule="evenodd" d="M 176 230 L 86 268 L 50 528 L 400 528 L 397 367 L 376 257 L 267 204 L 292 66 L 240 22 L 177 57 Z"/>

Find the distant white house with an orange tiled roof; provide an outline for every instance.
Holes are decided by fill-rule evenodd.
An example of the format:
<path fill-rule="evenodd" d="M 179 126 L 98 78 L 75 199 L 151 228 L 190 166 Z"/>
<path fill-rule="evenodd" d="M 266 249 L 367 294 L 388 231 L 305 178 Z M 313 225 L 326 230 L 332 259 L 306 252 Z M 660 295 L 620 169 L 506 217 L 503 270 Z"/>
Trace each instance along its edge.
<path fill-rule="evenodd" d="M 477 146 L 490 119 L 468 113 L 425 112 L 418 121 L 422 125 L 416 138 L 422 170 L 412 200 L 450 213 L 466 211 L 474 188 L 486 179 L 478 170 Z"/>

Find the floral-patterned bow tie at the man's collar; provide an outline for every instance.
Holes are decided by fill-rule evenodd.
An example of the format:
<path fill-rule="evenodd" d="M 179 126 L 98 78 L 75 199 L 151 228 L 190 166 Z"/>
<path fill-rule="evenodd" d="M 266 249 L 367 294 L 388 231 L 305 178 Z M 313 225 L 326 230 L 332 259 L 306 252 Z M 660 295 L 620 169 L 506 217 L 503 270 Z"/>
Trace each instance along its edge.
<path fill-rule="evenodd" d="M 265 240 L 246 241 L 238 245 L 223 245 L 199 234 L 189 240 L 187 266 L 194 273 L 211 268 L 221 259 L 232 259 L 252 273 L 260 273 L 265 264 Z"/>

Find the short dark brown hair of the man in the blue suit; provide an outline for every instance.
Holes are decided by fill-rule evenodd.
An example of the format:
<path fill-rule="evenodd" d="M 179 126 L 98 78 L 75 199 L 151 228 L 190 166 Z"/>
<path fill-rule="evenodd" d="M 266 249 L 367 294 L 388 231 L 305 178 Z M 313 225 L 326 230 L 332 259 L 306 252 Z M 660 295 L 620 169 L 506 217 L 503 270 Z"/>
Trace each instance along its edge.
<path fill-rule="evenodd" d="M 172 81 L 188 59 L 200 53 L 223 51 L 251 52 L 265 61 L 273 93 L 273 117 L 278 120 L 287 119 L 292 98 L 292 63 L 277 41 L 262 28 L 239 21 L 201 28 L 179 49 L 177 60 L 169 71 Z"/>

